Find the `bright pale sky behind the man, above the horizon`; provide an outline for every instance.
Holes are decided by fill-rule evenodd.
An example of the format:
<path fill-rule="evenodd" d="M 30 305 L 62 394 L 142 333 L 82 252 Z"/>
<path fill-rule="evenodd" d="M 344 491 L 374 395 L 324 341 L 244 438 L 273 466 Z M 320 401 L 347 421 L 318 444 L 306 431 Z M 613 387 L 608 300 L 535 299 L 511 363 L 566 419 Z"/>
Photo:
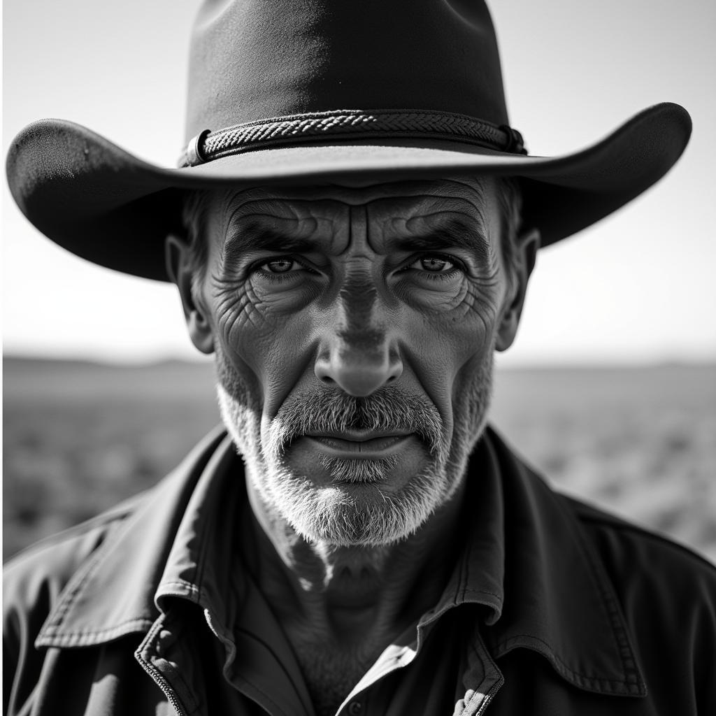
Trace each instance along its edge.
<path fill-rule="evenodd" d="M 2 147 L 41 117 L 73 120 L 174 166 L 183 142 L 185 0 L 4 0 Z M 540 252 L 514 346 L 500 362 L 716 359 L 716 3 L 500 0 L 511 124 L 531 154 L 604 137 L 677 102 L 690 146 L 664 180 Z M 198 358 L 173 286 L 82 261 L 24 219 L 2 186 L 6 354 L 137 362 Z"/>

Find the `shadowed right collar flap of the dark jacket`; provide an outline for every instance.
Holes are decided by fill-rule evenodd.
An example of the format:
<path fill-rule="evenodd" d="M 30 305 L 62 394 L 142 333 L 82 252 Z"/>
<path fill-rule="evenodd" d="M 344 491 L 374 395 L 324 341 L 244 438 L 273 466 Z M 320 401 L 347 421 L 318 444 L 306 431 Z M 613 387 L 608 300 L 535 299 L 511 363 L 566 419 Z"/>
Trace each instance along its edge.
<path fill-rule="evenodd" d="M 475 458 L 500 475 L 505 505 L 505 600 L 487 634 L 493 656 L 533 649 L 581 689 L 646 695 L 614 586 L 567 500 L 491 430 Z"/>

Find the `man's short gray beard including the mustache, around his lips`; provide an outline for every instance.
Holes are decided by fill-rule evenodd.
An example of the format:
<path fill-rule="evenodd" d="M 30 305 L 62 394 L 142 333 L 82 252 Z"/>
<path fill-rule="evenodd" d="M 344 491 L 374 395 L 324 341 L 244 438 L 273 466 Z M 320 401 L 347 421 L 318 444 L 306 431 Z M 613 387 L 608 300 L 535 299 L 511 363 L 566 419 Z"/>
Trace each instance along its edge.
<path fill-rule="evenodd" d="M 470 390 L 455 400 L 452 440 L 434 405 L 422 397 L 381 389 L 354 400 L 325 394 L 291 395 L 261 437 L 261 409 L 250 400 L 246 382 L 217 352 L 218 402 L 226 428 L 246 463 L 249 488 L 263 507 L 288 523 L 306 541 L 334 546 L 387 546 L 415 533 L 462 484 L 470 452 L 486 422 L 493 383 L 493 360 L 475 374 Z M 419 416 L 416 418 L 416 416 Z M 427 446 L 425 468 L 395 493 L 381 490 L 397 461 L 321 458 L 335 483 L 317 486 L 310 475 L 289 468 L 284 453 L 292 437 L 307 430 L 349 425 L 397 427 L 417 432 Z"/>

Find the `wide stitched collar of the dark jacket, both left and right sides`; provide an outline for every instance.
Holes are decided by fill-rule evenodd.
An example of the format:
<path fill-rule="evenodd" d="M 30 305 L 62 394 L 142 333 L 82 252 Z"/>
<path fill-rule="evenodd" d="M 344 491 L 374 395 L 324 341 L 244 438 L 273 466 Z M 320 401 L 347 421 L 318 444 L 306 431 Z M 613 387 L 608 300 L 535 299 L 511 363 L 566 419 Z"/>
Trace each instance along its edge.
<path fill-rule="evenodd" d="M 73 579 L 38 647 L 84 647 L 145 633 L 170 597 L 226 615 L 241 463 L 223 430 L 209 435 L 117 526 Z M 564 679 L 608 695 L 645 687 L 614 589 L 566 501 L 488 429 L 468 468 L 463 557 L 434 621 L 479 604 L 500 656 L 539 652 Z M 132 558 L 127 558 L 132 555 Z"/>

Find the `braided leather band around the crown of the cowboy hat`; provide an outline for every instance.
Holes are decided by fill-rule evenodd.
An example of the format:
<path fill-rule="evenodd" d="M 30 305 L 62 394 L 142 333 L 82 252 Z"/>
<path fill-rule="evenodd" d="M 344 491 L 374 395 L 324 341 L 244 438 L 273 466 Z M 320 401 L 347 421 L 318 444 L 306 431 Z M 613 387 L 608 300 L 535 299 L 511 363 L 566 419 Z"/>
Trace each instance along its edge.
<path fill-rule="evenodd" d="M 204 130 L 190 140 L 179 158 L 179 166 L 193 167 L 289 142 L 380 137 L 453 140 L 511 154 L 527 154 L 517 130 L 468 115 L 432 110 L 337 110 L 246 122 L 216 132 Z"/>

